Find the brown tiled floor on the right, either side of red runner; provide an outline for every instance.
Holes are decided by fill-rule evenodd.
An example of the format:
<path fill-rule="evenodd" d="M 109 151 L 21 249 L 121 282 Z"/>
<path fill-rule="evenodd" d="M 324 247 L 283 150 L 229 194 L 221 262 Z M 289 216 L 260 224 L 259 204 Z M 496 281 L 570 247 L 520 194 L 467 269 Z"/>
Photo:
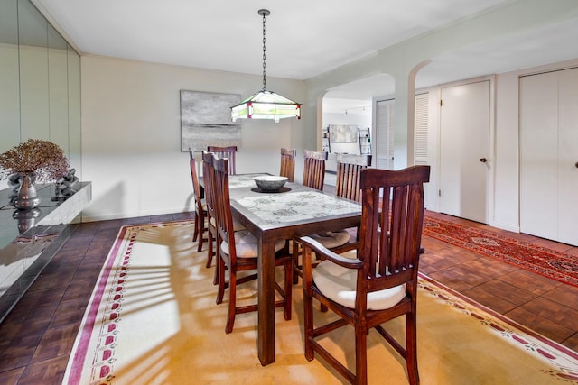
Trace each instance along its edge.
<path fill-rule="evenodd" d="M 540 244 L 576 256 L 578 247 L 555 243 L 527 234 L 515 234 L 449 215 L 428 213 L 443 219 Z M 467 252 L 449 243 L 424 237 L 425 254 L 420 271 L 460 291 L 500 314 L 578 351 L 578 288 L 527 270 Z"/>

